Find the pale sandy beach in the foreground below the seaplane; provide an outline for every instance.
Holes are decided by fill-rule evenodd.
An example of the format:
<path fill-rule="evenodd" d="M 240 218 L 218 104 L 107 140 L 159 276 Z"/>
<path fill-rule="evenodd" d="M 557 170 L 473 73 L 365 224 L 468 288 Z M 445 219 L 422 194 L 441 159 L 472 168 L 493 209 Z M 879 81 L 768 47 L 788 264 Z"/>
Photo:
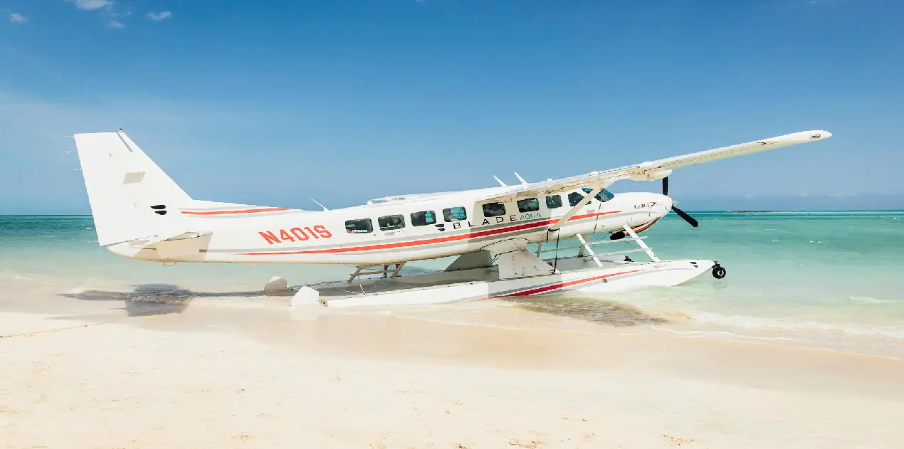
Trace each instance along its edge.
<path fill-rule="evenodd" d="M 491 302 L 291 311 L 278 296 L 139 296 L 0 294 L 3 447 L 904 442 L 904 360 Z"/>

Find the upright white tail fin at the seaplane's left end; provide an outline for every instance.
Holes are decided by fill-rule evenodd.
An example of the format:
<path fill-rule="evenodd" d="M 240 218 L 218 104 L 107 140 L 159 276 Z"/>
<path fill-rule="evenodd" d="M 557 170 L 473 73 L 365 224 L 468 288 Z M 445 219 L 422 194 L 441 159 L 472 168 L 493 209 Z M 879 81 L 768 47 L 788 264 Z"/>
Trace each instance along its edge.
<path fill-rule="evenodd" d="M 179 208 L 192 198 L 126 133 L 74 138 L 101 246 L 184 230 Z"/>

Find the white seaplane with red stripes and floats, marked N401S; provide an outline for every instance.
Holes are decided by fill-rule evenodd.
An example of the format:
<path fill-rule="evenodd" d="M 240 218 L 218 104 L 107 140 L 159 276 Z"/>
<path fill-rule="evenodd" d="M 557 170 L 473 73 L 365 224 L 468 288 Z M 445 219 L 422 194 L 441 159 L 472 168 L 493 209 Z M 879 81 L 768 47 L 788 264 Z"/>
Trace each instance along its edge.
<path fill-rule="evenodd" d="M 724 277 L 713 260 L 660 259 L 638 236 L 670 212 L 699 225 L 668 196 L 673 170 L 831 136 L 804 131 L 541 182 L 516 173 L 520 183 L 513 185 L 496 178 L 499 185 L 485 189 L 396 195 L 332 210 L 195 200 L 122 129 L 73 138 L 100 246 L 167 266 L 353 266 L 348 279 L 288 287 L 293 306 L 345 307 L 607 294 L 680 285 L 707 271 Z M 624 180 L 660 181 L 662 193 L 607 190 Z M 577 242 L 576 256 L 565 257 L 565 239 Z M 631 248 L 594 250 L 618 242 Z M 441 270 L 402 270 L 442 257 L 457 258 Z"/>

